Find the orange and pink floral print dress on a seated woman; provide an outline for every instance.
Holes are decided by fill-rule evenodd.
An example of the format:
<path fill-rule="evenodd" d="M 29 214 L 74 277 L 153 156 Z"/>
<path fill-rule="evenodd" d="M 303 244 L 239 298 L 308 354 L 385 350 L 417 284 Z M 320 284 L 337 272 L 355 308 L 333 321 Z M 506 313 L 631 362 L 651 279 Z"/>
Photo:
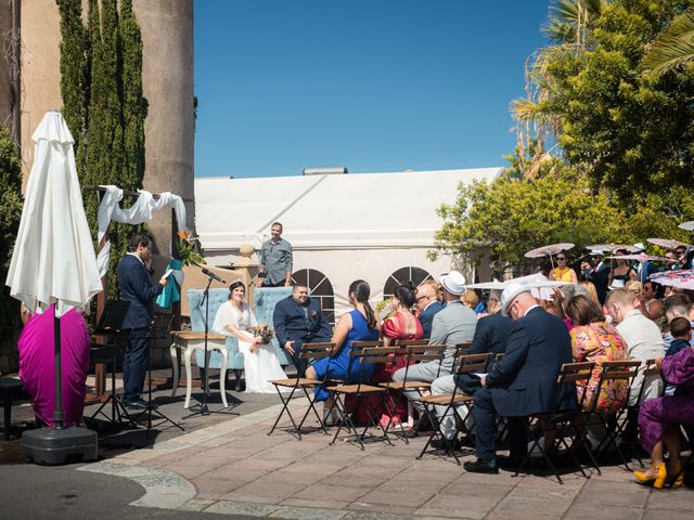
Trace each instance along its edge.
<path fill-rule="evenodd" d="M 574 359 L 577 362 L 595 363 L 588 385 L 576 385 L 578 400 L 582 403 L 583 410 L 591 411 L 593 400 L 597 399 L 595 412 L 608 414 L 617 412 L 629 394 L 627 381 L 607 380 L 600 389 L 600 394 L 597 396 L 595 394 L 600 385 L 603 362 L 626 361 L 628 359 L 627 341 L 615 327 L 606 322 L 574 327 L 570 335 Z M 586 392 L 584 398 L 582 396 L 583 392 Z"/>

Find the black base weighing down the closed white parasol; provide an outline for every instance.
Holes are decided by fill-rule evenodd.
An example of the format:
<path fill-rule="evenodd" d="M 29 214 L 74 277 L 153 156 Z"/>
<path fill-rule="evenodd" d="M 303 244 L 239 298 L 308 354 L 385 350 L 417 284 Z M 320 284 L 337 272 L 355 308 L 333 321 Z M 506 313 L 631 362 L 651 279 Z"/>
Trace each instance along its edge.
<path fill-rule="evenodd" d="M 94 431 L 86 428 L 54 430 L 40 428 L 22 435 L 22 454 L 34 464 L 59 465 L 68 461 L 95 460 L 99 441 Z"/>

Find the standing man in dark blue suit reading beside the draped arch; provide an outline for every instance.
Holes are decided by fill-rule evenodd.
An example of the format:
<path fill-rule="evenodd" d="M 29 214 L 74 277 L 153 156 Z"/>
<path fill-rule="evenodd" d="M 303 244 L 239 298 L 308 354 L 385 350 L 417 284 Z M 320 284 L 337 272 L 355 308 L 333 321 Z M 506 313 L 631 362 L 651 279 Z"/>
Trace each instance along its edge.
<path fill-rule="evenodd" d="M 132 408 L 146 410 L 141 398 L 144 376 L 150 360 L 149 332 L 152 322 L 152 301 L 166 286 L 166 278 L 152 285 L 152 236 L 134 233 L 128 244 L 129 252 L 118 262 L 116 273 L 120 286 L 120 298 L 130 302 L 123 322 L 128 334 L 128 346 L 123 359 L 123 403 Z"/>

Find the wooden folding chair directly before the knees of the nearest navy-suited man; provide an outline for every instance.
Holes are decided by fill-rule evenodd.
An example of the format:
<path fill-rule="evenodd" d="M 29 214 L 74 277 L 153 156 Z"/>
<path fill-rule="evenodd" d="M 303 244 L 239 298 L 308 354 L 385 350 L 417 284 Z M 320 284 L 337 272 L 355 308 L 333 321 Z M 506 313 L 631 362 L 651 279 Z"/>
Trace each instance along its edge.
<path fill-rule="evenodd" d="M 483 354 L 459 354 L 453 360 L 453 365 L 455 366 L 454 374 L 460 376 L 462 374 L 486 373 L 487 367 L 489 366 L 490 360 L 491 360 L 491 354 L 488 352 Z M 458 386 L 455 385 L 451 393 L 444 393 L 439 395 L 425 395 L 425 396 L 419 398 L 416 401 L 424 405 L 428 414 L 436 414 L 436 406 L 446 406 L 444 414 L 436 421 L 436 425 L 434 430 L 432 431 L 432 434 L 429 435 L 428 440 L 426 441 L 426 444 L 424 444 L 422 452 L 416 458 L 417 459 L 422 458 L 422 456 L 426 453 L 426 450 L 429 447 L 434 439 L 440 439 L 444 445 L 446 445 L 446 453 L 449 455 L 452 455 L 453 458 L 455 459 L 455 463 L 460 466 L 460 458 L 458 458 L 458 455 L 455 455 L 455 451 L 453 450 L 454 440 L 449 440 L 446 438 L 446 435 L 444 434 L 444 430 L 441 428 L 441 421 L 449 416 L 449 413 L 452 413 L 453 417 L 455 417 L 455 420 L 458 422 L 458 419 L 460 418 L 460 415 L 458 414 L 458 406 L 465 406 L 470 413 L 472 408 L 472 403 L 473 403 L 472 395 L 467 395 L 463 393 L 462 391 L 459 390 Z M 465 432 L 465 434 L 467 435 L 472 434 L 472 431 L 465 431 L 466 429 L 465 429 L 464 420 L 462 422 L 463 425 L 461 428 L 457 430 L 455 437 L 458 437 L 458 433 L 461 431 Z"/>

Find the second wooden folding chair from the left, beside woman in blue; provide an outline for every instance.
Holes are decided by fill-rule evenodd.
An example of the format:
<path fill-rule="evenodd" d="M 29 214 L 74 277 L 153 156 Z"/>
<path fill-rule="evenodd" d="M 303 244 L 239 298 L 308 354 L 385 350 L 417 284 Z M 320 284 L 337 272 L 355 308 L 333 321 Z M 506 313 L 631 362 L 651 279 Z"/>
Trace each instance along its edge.
<path fill-rule="evenodd" d="M 357 381 L 354 381 L 352 373 L 354 367 L 357 364 L 369 364 L 369 363 L 394 363 L 395 354 L 400 350 L 399 347 L 367 347 L 367 348 L 358 348 L 356 344 L 358 342 L 351 343 L 351 350 L 349 351 L 349 365 L 347 369 L 347 380 L 345 382 L 340 382 L 338 385 L 329 386 L 327 390 L 330 391 L 333 398 L 333 406 L 331 411 L 334 408 L 339 414 L 339 425 L 337 426 L 337 431 L 335 431 L 335 437 L 331 441 L 331 445 L 335 443 L 337 438 L 339 437 L 339 432 L 343 427 L 347 428 L 351 434 L 355 435 L 355 440 L 359 442 L 359 447 L 363 451 L 364 443 L 363 440 L 367 437 L 367 431 L 369 427 L 375 424 L 383 433 L 382 437 L 375 438 L 374 440 L 385 440 L 388 444 L 393 445 L 390 439 L 388 437 L 388 432 L 385 430 L 378 417 L 376 417 L 376 406 L 372 406 L 371 400 L 369 398 L 376 396 L 381 398 L 377 402 L 381 403 L 384 395 L 387 393 L 387 390 L 383 387 L 372 384 L 365 377 L 365 370 L 362 368 L 359 370 L 359 377 L 356 378 Z M 357 410 L 360 405 L 363 404 L 363 407 L 367 412 L 368 420 L 364 425 L 363 431 L 359 433 L 357 426 L 351 417 L 351 411 L 347 408 L 347 399 L 351 398 L 354 401 L 352 410 Z"/>

